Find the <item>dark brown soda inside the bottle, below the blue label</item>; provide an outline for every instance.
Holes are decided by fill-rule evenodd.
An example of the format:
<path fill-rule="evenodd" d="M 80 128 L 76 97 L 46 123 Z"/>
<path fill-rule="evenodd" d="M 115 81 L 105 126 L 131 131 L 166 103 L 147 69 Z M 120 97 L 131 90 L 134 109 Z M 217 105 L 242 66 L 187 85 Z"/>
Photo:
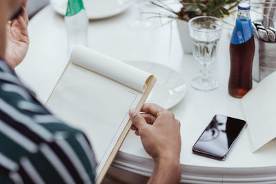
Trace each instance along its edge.
<path fill-rule="evenodd" d="M 242 98 L 252 89 L 252 66 L 255 54 L 254 36 L 242 44 L 230 43 L 230 78 L 228 92 Z"/>

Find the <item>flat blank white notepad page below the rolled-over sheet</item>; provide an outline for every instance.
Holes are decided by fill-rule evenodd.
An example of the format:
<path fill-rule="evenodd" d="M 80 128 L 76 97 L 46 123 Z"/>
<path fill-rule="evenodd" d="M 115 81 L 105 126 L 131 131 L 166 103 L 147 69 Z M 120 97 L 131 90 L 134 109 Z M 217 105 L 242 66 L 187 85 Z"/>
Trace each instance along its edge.
<path fill-rule="evenodd" d="M 47 105 L 92 143 L 97 174 L 128 123 L 128 110 L 143 94 L 105 76 L 71 64 L 63 74 Z"/>

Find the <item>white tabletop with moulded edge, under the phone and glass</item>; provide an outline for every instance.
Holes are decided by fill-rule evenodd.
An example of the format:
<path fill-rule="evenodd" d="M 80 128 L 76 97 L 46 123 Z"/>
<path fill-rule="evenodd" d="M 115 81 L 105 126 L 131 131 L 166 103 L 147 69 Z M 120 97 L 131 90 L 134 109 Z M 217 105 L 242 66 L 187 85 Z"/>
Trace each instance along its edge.
<path fill-rule="evenodd" d="M 121 61 L 151 61 L 167 65 L 177 70 L 187 84 L 199 74 L 199 63 L 192 55 L 183 55 L 175 23 L 159 28 L 159 21 L 155 21 L 154 28 L 150 30 L 131 30 L 128 27 L 131 13 L 128 10 L 110 19 L 91 21 L 88 30 L 90 48 Z M 45 103 L 68 61 L 63 17 L 47 6 L 30 21 L 29 34 L 30 49 L 16 71 Z M 244 130 L 226 161 L 215 161 L 192 153 L 193 144 L 215 114 L 244 119 L 239 99 L 228 95 L 229 43 L 228 31 L 224 30 L 217 61 L 211 65 L 211 73 L 219 80 L 219 88 L 212 92 L 199 92 L 188 84 L 184 99 L 171 109 L 181 121 L 182 181 L 276 183 L 275 140 L 253 154 L 248 132 Z M 113 165 L 150 176 L 153 162 L 139 137 L 130 132 Z"/>

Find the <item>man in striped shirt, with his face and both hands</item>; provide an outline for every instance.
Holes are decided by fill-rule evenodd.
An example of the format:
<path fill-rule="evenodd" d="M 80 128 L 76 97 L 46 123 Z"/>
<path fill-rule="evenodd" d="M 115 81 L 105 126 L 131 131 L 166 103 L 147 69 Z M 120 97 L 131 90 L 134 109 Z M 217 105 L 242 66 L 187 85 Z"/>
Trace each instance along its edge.
<path fill-rule="evenodd" d="M 86 136 L 53 116 L 14 74 L 28 50 L 27 0 L 0 1 L 0 183 L 95 183 Z M 148 183 L 178 183 L 180 123 L 158 105 L 130 110 L 155 162 Z"/>

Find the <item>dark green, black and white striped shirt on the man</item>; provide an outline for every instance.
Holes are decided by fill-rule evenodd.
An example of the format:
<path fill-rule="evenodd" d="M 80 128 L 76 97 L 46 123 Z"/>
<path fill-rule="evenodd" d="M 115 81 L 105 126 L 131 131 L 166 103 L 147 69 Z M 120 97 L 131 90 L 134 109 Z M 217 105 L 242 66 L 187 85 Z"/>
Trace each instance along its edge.
<path fill-rule="evenodd" d="M 0 183 L 95 183 L 86 136 L 53 116 L 0 60 Z"/>

